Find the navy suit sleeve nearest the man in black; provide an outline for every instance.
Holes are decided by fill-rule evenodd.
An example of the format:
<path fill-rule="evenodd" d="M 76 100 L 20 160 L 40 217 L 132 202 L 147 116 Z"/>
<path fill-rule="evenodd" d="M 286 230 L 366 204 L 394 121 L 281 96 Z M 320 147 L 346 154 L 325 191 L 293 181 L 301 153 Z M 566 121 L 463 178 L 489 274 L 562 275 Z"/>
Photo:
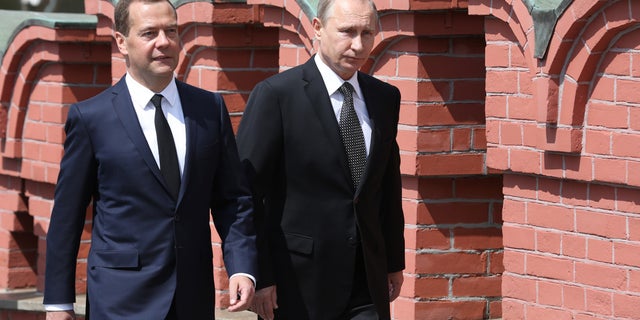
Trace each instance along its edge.
<path fill-rule="evenodd" d="M 229 275 L 257 274 L 253 204 L 247 180 L 242 172 L 238 149 L 224 100 L 216 95 L 219 106 L 220 159 L 211 195 L 211 210 L 216 230 L 222 239 L 225 268 Z"/>

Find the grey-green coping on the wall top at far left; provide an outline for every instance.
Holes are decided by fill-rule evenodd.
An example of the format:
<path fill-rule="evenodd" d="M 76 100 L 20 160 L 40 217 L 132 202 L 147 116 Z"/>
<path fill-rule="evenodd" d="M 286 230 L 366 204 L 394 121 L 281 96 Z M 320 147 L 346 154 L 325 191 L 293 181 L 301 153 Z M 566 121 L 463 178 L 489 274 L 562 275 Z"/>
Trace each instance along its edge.
<path fill-rule="evenodd" d="M 4 60 L 7 48 L 16 35 L 29 26 L 50 29 L 95 29 L 98 17 L 83 13 L 56 13 L 0 10 L 0 58 Z M 0 61 L 2 61 L 0 60 Z"/>

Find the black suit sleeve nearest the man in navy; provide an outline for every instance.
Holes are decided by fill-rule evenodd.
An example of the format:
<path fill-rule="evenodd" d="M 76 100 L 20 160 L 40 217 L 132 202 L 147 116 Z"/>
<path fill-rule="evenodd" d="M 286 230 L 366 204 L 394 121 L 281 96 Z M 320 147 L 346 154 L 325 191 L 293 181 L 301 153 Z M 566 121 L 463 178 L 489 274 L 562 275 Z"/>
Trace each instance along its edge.
<path fill-rule="evenodd" d="M 282 119 L 278 97 L 268 82 L 259 83 L 251 92 L 238 129 L 240 158 L 252 188 L 254 219 L 258 245 L 258 288 L 275 284 L 269 238 L 270 218 L 274 214 L 265 203 L 269 192 L 279 192 L 277 174 L 282 153 Z"/>

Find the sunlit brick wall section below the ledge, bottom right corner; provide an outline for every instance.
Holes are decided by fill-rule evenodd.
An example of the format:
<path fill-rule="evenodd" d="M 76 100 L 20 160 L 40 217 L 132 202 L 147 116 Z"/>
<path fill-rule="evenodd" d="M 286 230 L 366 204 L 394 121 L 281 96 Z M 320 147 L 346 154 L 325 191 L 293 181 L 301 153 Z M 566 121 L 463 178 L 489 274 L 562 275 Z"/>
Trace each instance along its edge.
<path fill-rule="evenodd" d="M 508 175 L 504 193 L 505 319 L 637 319 L 638 189 Z"/>

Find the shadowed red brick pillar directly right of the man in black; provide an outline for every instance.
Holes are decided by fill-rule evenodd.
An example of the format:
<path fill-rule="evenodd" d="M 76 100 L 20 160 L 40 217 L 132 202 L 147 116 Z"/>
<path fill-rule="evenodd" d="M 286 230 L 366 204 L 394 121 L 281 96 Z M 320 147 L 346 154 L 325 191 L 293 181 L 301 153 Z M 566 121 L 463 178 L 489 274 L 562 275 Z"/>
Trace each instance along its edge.
<path fill-rule="evenodd" d="M 484 164 L 484 41 L 407 38 L 376 67 L 402 92 L 407 269 L 393 317 L 499 318 L 502 183 Z"/>

